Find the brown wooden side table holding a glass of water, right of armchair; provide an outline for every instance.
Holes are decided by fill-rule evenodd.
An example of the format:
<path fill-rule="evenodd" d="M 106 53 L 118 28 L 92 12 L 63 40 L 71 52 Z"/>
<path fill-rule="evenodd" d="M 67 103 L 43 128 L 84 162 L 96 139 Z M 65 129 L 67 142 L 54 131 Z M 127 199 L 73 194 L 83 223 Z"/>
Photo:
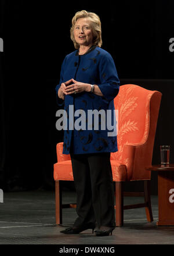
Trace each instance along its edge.
<path fill-rule="evenodd" d="M 174 164 L 146 168 L 158 172 L 158 226 L 174 225 Z"/>

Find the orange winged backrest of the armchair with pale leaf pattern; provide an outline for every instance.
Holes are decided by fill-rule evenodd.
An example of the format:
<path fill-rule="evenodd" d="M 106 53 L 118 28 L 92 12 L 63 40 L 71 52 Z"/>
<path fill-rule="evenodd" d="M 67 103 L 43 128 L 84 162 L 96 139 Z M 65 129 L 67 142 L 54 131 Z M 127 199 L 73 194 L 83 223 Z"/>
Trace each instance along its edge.
<path fill-rule="evenodd" d="M 115 110 L 118 110 L 118 152 L 111 153 L 111 160 L 128 165 L 125 145 L 137 146 L 128 180 L 150 179 L 146 167 L 151 165 L 153 157 L 161 96 L 161 92 L 126 84 L 120 86 L 114 99 Z"/>

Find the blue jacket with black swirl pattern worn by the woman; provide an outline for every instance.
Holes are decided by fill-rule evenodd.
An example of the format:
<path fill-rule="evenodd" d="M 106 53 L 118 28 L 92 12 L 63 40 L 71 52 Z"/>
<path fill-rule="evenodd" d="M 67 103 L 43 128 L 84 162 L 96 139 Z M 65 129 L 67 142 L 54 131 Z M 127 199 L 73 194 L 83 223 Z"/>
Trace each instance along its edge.
<path fill-rule="evenodd" d="M 71 78 L 79 82 L 98 85 L 103 96 L 98 96 L 92 92 L 81 92 L 66 95 L 65 99 L 61 100 L 57 96 L 60 85 Z M 103 117 L 100 114 L 99 128 L 95 128 L 94 119 L 92 119 L 92 123 L 88 124 L 88 110 L 104 110 L 106 122 L 108 118 L 107 110 L 110 110 L 111 114 L 109 116 L 112 121 L 111 125 L 113 125 L 115 116 L 113 99 L 117 96 L 118 91 L 119 79 L 110 53 L 102 48 L 95 47 L 93 51 L 86 55 L 78 55 L 78 50 L 76 50 L 65 57 L 61 66 L 60 82 L 56 86 L 57 104 L 64 106 L 64 110 L 67 111 L 67 120 L 72 120 L 70 105 L 74 108 L 74 112 L 76 110 L 84 110 L 86 128 L 72 129 L 67 121 L 68 127 L 64 129 L 63 154 L 69 154 L 70 152 L 74 154 L 117 152 L 117 135 L 108 136 L 108 132 L 113 132 L 114 129 L 111 130 L 107 125 L 105 129 L 102 128 L 101 122 L 103 119 L 101 118 Z M 69 114 L 71 114 L 71 118 Z M 75 122 L 81 115 L 74 115 L 73 117 Z M 81 124 L 79 122 L 79 127 Z"/>

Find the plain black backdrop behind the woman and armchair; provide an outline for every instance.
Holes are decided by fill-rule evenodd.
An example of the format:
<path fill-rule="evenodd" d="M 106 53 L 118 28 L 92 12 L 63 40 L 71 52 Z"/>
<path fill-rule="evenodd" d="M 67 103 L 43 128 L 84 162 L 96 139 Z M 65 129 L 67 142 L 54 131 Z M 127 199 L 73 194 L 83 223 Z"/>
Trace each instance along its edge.
<path fill-rule="evenodd" d="M 103 49 L 110 52 L 123 84 L 162 92 L 153 164 L 160 145 L 171 145 L 173 162 L 174 2 L 170 1 L 9 1 L 0 2 L 1 126 L 0 188 L 54 189 L 57 131 L 55 87 L 64 57 L 74 51 L 71 19 L 78 10 L 97 13 Z M 157 174 L 151 192 L 157 194 Z M 125 190 L 142 190 L 132 182 Z M 64 189 L 74 189 L 73 182 Z"/>

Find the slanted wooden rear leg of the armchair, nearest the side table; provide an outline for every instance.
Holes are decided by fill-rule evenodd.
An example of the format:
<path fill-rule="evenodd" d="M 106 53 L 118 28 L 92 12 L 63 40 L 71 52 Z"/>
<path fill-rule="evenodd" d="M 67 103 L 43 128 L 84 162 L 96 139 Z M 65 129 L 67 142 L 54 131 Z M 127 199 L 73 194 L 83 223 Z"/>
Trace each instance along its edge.
<path fill-rule="evenodd" d="M 146 217 L 148 222 L 153 221 L 153 212 L 151 210 L 151 199 L 150 199 L 150 181 L 144 181 L 144 201 L 146 206 Z"/>

